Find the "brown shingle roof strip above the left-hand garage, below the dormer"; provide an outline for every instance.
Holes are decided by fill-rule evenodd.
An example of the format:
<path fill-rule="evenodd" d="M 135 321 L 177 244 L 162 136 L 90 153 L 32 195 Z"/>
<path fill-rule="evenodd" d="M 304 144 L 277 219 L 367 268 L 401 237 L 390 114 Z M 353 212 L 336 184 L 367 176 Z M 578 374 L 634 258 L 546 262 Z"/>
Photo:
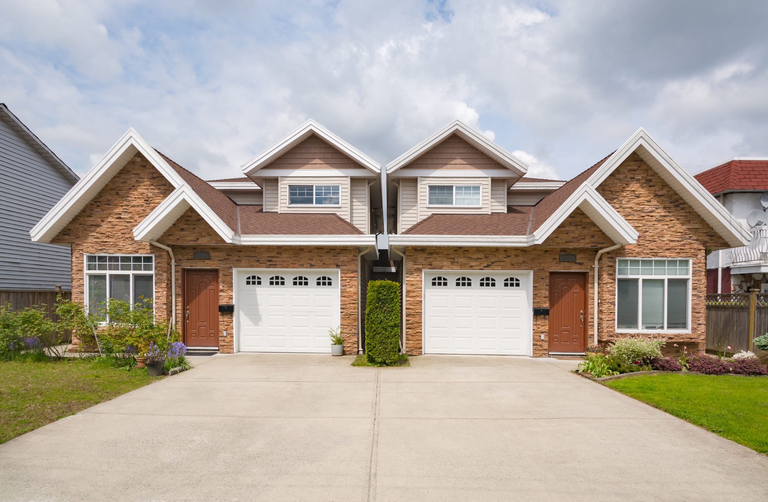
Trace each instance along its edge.
<path fill-rule="evenodd" d="M 348 235 L 362 234 L 337 214 L 264 213 L 263 206 L 240 206 L 240 233 Z"/>

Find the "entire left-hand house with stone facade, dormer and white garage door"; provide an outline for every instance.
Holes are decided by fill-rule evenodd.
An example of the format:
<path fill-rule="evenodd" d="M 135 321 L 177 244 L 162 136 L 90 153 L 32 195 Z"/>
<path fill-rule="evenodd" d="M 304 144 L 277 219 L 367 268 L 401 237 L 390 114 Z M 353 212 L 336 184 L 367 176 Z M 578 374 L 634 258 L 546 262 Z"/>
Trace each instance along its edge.
<path fill-rule="evenodd" d="M 243 178 L 206 182 L 131 129 L 31 236 L 71 246 L 75 301 L 154 299 L 190 347 L 330 352 L 340 326 L 356 354 L 380 172 L 307 121 L 243 164 Z"/>

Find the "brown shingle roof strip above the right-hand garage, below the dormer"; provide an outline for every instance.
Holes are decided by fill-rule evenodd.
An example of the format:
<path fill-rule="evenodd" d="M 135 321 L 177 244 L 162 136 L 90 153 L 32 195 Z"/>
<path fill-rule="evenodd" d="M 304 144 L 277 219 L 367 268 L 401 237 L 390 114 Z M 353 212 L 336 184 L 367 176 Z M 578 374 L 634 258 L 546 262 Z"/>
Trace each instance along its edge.
<path fill-rule="evenodd" d="M 533 206 L 507 206 L 507 213 L 432 214 L 403 233 L 446 236 L 525 236 Z"/>

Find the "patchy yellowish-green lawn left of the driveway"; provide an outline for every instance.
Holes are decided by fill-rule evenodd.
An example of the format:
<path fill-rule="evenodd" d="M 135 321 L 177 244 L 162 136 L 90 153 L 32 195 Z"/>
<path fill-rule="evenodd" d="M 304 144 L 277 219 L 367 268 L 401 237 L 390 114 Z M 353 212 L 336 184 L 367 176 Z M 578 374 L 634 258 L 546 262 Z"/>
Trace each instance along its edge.
<path fill-rule="evenodd" d="M 0 443 L 161 378 L 104 360 L 0 362 Z"/>

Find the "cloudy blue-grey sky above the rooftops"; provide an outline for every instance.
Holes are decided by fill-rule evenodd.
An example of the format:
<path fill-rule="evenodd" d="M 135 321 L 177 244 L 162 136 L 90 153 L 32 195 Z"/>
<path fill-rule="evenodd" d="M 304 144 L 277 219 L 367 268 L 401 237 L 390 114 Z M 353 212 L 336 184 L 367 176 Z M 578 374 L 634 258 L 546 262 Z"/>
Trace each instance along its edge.
<path fill-rule="evenodd" d="M 768 156 L 768 2 L 3 2 L 0 102 L 84 173 L 136 128 L 206 179 L 313 118 L 388 163 L 458 118 L 568 179 L 645 127 Z"/>

